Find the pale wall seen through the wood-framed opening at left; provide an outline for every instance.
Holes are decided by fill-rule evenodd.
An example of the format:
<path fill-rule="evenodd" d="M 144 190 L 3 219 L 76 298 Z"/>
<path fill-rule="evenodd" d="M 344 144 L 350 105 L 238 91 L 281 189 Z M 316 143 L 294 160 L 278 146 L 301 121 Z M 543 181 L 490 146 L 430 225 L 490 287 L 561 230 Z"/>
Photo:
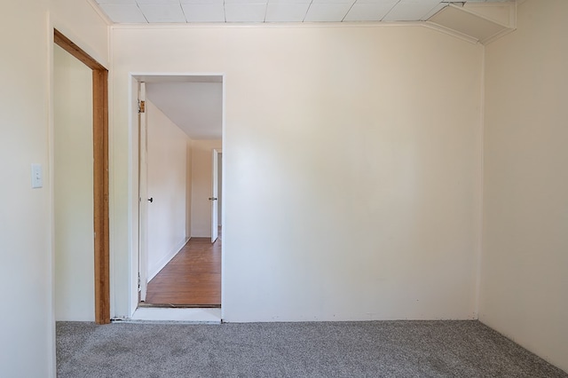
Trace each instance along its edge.
<path fill-rule="evenodd" d="M 95 320 L 92 71 L 53 50 L 55 319 Z"/>

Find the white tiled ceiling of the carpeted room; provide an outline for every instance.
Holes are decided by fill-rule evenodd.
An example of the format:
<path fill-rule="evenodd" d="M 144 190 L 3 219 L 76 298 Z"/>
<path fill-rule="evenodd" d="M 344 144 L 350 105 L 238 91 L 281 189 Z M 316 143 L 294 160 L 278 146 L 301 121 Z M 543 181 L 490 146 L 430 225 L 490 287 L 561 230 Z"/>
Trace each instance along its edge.
<path fill-rule="evenodd" d="M 427 20 L 448 3 L 510 0 L 95 0 L 114 23 Z"/>

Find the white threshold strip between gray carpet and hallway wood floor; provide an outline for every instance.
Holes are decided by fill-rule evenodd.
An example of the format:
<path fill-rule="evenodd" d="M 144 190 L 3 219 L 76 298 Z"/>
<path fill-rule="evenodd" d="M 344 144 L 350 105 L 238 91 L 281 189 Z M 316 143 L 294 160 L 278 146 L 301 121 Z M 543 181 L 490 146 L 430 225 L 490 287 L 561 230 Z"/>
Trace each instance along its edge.
<path fill-rule="evenodd" d="M 193 323 L 221 324 L 220 308 L 163 308 L 138 307 L 130 319 L 119 320 L 121 323 Z"/>

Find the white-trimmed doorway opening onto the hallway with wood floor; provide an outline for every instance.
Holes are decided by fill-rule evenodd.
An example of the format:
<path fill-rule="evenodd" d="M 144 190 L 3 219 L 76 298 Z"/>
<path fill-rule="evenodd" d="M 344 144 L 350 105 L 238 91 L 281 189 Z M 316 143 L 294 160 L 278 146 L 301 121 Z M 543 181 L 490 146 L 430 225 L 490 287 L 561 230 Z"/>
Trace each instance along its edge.
<path fill-rule="evenodd" d="M 140 141 L 138 254 L 133 254 L 138 257 L 140 278 L 139 287 L 134 287 L 136 307 L 220 307 L 222 237 L 211 242 L 212 224 L 218 222 L 213 219 L 211 199 L 219 197 L 214 190 L 217 177 L 213 184 L 217 163 L 212 151 L 222 148 L 223 75 L 132 78 L 136 82 L 132 92 L 138 92 L 141 104 L 136 109 Z M 185 214 L 172 209 L 185 209 Z M 218 214 L 216 210 L 215 218 Z"/>

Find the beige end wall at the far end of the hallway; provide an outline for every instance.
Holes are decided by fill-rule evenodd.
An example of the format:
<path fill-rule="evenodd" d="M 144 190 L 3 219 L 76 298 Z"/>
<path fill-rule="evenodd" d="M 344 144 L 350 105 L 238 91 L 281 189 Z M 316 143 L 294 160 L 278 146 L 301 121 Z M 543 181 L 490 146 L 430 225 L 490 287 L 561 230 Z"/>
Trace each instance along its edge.
<path fill-rule="evenodd" d="M 221 140 L 193 140 L 192 143 L 192 237 L 211 237 L 212 150 Z"/>

